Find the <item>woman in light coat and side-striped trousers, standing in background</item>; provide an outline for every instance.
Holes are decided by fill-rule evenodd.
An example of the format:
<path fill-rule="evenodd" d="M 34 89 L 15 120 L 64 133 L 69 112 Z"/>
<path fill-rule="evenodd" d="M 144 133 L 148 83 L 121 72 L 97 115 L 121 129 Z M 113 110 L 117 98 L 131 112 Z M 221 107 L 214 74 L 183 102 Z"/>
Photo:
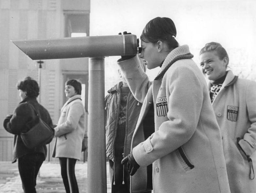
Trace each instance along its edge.
<path fill-rule="evenodd" d="M 65 83 L 68 100 L 61 108 L 58 124 L 54 128 L 56 141 L 52 157 L 59 158 L 66 193 L 79 193 L 75 165 L 81 157 L 85 134 L 85 108 L 81 90 L 81 83 L 75 79 Z"/>

